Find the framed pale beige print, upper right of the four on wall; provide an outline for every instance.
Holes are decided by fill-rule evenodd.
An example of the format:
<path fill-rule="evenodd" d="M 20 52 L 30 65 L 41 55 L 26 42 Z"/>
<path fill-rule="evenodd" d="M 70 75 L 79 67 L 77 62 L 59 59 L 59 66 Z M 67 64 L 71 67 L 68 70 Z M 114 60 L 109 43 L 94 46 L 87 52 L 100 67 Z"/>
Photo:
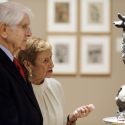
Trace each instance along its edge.
<path fill-rule="evenodd" d="M 110 0 L 81 0 L 80 6 L 82 32 L 110 32 Z"/>

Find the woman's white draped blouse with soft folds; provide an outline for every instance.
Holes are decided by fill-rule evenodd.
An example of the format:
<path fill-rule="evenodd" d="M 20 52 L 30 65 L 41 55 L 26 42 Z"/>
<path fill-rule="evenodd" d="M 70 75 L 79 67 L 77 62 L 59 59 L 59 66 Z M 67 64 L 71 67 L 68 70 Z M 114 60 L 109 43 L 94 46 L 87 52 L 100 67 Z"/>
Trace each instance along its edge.
<path fill-rule="evenodd" d="M 61 84 L 53 78 L 46 78 L 43 84 L 32 86 L 43 115 L 43 125 L 66 125 Z"/>

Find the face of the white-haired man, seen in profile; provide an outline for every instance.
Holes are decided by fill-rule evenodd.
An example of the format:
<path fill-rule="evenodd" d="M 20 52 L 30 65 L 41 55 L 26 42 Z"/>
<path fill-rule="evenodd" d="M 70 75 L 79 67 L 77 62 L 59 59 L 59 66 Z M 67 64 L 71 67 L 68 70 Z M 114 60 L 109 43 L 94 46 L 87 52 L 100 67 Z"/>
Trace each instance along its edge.
<path fill-rule="evenodd" d="M 21 22 L 16 26 L 8 26 L 6 30 L 6 41 L 8 42 L 8 49 L 10 49 L 11 52 L 25 49 L 26 40 L 32 35 L 29 24 L 29 17 L 25 15 Z"/>

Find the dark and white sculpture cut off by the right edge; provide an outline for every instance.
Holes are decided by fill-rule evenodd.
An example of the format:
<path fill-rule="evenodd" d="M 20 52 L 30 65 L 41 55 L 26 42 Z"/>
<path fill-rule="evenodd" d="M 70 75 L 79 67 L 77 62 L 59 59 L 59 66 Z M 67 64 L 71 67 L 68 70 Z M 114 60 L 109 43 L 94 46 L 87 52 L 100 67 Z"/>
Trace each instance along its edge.
<path fill-rule="evenodd" d="M 122 16 L 120 13 L 118 13 L 118 18 L 120 21 L 114 21 L 113 24 L 117 28 L 122 28 L 122 42 L 121 42 L 121 53 L 122 53 L 122 59 L 125 64 L 125 16 Z M 121 86 L 120 90 L 117 93 L 116 96 L 116 104 L 118 106 L 118 120 L 124 120 L 125 121 L 125 85 Z"/>

